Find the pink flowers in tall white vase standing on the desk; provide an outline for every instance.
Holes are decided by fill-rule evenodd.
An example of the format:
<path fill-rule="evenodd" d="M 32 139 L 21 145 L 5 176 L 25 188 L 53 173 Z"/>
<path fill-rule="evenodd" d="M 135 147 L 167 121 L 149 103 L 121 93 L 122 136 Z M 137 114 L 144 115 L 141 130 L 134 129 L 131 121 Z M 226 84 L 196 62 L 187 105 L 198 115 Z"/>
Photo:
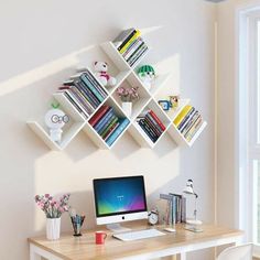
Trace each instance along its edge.
<path fill-rule="evenodd" d="M 61 234 L 61 216 L 68 212 L 68 198 L 71 194 L 64 194 L 59 199 L 55 199 L 50 194 L 36 195 L 37 206 L 46 215 L 46 237 L 50 240 L 56 240 Z"/>

